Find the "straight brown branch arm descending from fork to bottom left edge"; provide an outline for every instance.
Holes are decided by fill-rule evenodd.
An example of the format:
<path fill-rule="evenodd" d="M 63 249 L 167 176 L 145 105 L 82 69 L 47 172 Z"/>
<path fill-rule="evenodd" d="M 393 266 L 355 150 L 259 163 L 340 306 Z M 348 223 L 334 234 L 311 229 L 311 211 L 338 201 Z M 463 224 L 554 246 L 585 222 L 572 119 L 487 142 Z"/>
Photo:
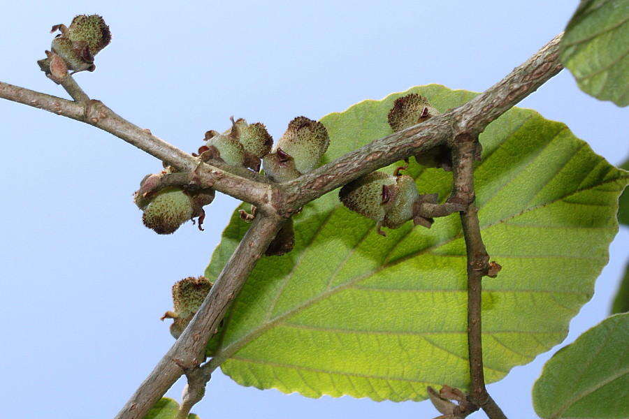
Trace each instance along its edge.
<path fill-rule="evenodd" d="M 182 374 L 198 369 L 203 362 L 199 353 L 217 330 L 229 304 L 285 221 L 276 214 L 258 213 L 188 327 L 140 384 L 116 419 L 144 418 Z"/>

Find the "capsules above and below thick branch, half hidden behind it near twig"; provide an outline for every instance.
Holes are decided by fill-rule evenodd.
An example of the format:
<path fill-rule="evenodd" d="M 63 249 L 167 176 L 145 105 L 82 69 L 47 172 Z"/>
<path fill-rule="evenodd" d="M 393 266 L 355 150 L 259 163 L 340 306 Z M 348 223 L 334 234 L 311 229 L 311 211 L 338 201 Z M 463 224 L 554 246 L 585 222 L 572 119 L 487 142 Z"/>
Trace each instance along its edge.
<path fill-rule="evenodd" d="M 433 108 L 428 99 L 412 93 L 396 99 L 387 120 L 391 129 L 398 132 L 428 121 L 439 114 L 440 112 Z M 417 154 L 415 160 L 421 166 L 428 168 L 442 168 L 448 172 L 452 170 L 452 152 L 447 145 L 438 145 L 422 154 Z"/>

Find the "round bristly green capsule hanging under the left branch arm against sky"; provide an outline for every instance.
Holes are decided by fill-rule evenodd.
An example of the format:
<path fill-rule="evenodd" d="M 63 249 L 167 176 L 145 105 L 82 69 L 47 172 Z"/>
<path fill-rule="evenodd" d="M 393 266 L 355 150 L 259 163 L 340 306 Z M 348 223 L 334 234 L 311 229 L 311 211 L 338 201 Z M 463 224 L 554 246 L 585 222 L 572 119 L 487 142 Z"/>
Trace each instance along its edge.
<path fill-rule="evenodd" d="M 172 234 L 193 214 L 189 196 L 176 186 L 168 186 L 146 205 L 142 221 L 157 234 Z"/>

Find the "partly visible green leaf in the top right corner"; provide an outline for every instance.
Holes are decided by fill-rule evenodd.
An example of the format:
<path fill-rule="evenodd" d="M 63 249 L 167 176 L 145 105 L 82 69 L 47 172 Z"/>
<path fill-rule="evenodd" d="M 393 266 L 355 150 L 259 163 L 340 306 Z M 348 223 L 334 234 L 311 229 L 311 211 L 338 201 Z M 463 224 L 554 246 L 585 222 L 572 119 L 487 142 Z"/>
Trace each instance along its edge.
<path fill-rule="evenodd" d="M 581 0 L 565 29 L 560 57 L 581 90 L 629 105 L 629 0 Z"/>

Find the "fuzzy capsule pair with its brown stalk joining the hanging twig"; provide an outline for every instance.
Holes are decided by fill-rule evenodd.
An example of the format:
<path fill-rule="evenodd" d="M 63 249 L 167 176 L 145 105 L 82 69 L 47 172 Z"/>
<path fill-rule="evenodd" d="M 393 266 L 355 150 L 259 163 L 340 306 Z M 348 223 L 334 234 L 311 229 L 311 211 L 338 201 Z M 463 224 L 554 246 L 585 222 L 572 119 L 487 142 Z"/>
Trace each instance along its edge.
<path fill-rule="evenodd" d="M 420 195 L 415 180 L 400 174 L 405 168 L 397 168 L 393 175 L 371 172 L 349 182 L 340 189 L 340 201 L 349 210 L 377 221 L 377 233 L 385 237 L 382 227 L 396 229 L 412 220 L 415 226 L 430 228 L 433 217 L 465 210 L 465 205 L 458 203 L 439 205 L 436 193 Z"/>

